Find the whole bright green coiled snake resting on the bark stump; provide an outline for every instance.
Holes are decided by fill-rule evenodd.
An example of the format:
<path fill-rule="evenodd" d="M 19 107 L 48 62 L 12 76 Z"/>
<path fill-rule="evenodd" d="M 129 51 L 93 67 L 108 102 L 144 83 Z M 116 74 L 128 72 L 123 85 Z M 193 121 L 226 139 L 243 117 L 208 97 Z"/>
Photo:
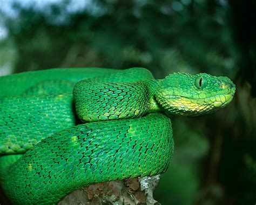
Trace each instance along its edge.
<path fill-rule="evenodd" d="M 174 142 L 164 113 L 212 113 L 235 93 L 227 77 L 154 79 L 143 68 L 32 71 L 0 84 L 1 184 L 14 204 L 55 204 L 89 184 L 165 172 Z"/>

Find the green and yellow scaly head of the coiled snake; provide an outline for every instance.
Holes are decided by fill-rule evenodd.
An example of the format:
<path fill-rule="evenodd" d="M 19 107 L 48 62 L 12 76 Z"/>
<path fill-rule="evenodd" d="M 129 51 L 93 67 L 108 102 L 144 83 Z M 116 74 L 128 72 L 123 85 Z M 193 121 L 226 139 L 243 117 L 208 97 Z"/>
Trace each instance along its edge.
<path fill-rule="evenodd" d="M 156 100 L 166 113 L 198 116 L 225 107 L 234 93 L 235 85 L 227 77 L 173 73 L 159 80 Z"/>

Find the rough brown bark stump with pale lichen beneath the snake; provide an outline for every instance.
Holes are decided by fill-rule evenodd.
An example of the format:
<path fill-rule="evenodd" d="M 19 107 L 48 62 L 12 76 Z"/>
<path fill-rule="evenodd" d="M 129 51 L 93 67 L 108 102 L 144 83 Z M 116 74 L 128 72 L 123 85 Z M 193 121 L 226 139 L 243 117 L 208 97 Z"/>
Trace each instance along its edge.
<path fill-rule="evenodd" d="M 160 175 L 92 184 L 66 196 L 64 204 L 160 204 L 153 199 Z"/>

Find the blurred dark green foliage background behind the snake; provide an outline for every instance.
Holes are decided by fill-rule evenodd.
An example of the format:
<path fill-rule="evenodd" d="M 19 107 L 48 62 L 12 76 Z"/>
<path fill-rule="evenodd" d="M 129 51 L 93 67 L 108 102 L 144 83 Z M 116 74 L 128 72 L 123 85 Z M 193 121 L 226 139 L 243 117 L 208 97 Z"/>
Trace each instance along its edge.
<path fill-rule="evenodd" d="M 146 67 L 228 76 L 230 105 L 172 117 L 161 204 L 256 203 L 254 0 L 0 0 L 0 75 L 53 67 Z M 1 86 L 1 85 L 0 85 Z"/>

